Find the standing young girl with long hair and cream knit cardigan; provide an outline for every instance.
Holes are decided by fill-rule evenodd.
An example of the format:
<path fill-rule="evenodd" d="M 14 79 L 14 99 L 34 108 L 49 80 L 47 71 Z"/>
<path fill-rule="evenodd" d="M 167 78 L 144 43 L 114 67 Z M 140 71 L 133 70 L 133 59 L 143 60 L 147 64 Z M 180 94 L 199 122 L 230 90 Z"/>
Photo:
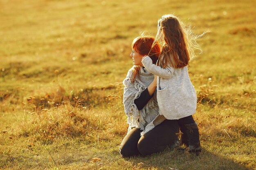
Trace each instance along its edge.
<path fill-rule="evenodd" d="M 142 64 L 152 74 L 157 75 L 157 102 L 160 115 L 166 119 L 177 119 L 182 131 L 182 143 L 189 152 L 201 152 L 198 126 L 192 114 L 195 113 L 197 96 L 189 79 L 187 65 L 194 56 L 193 49 L 198 44 L 189 39 L 190 33 L 174 15 L 163 15 L 158 20 L 158 33 L 163 40 L 162 52 L 157 65 L 148 56 Z M 157 38 L 156 38 L 157 39 Z"/>

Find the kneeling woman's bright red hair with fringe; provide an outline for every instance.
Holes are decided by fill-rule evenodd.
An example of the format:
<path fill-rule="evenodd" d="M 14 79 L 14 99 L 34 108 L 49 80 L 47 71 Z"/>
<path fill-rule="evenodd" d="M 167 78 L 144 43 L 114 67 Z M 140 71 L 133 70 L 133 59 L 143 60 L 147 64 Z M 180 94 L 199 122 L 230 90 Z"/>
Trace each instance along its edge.
<path fill-rule="evenodd" d="M 154 43 L 154 44 L 153 44 Z M 139 36 L 132 41 L 132 49 L 135 49 L 140 55 L 148 55 L 153 64 L 157 63 L 159 54 L 161 53 L 161 48 L 155 38 L 148 36 Z M 140 70 L 140 66 L 133 67 L 133 77 L 132 83 L 135 82 L 135 77 Z"/>

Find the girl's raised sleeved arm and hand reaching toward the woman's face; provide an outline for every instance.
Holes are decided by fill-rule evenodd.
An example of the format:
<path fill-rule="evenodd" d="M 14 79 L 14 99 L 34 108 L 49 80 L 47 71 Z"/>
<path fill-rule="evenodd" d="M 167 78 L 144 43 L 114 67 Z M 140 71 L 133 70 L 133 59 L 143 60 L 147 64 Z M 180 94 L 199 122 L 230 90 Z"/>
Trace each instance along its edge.
<path fill-rule="evenodd" d="M 172 67 L 167 66 L 166 68 L 161 68 L 160 66 L 156 66 L 148 56 L 144 57 L 141 62 L 153 75 L 157 75 L 164 79 L 170 79 L 173 76 L 174 69 Z"/>

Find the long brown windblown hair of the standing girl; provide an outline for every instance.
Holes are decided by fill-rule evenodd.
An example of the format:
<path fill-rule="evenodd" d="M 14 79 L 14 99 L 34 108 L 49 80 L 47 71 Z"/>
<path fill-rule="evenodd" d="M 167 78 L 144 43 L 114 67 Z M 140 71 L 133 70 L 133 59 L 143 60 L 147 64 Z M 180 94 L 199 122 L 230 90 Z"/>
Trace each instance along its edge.
<path fill-rule="evenodd" d="M 204 33 L 202 34 L 204 35 Z M 158 20 L 157 38 L 162 38 L 164 44 L 157 62 L 158 66 L 165 68 L 183 68 L 195 57 L 195 49 L 202 49 L 195 41 L 202 35 L 194 35 L 190 26 L 185 26 L 175 15 L 163 15 Z"/>

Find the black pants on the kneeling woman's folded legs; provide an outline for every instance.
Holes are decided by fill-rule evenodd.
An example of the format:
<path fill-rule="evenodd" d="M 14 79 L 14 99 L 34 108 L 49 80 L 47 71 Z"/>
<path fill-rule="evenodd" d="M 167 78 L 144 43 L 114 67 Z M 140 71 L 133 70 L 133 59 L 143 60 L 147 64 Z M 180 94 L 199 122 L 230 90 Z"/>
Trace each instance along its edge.
<path fill-rule="evenodd" d="M 123 157 L 150 155 L 162 152 L 168 144 L 177 140 L 175 133 L 179 132 L 177 120 L 164 120 L 161 124 L 140 136 L 142 130 L 132 128 L 124 137 L 119 152 Z"/>

